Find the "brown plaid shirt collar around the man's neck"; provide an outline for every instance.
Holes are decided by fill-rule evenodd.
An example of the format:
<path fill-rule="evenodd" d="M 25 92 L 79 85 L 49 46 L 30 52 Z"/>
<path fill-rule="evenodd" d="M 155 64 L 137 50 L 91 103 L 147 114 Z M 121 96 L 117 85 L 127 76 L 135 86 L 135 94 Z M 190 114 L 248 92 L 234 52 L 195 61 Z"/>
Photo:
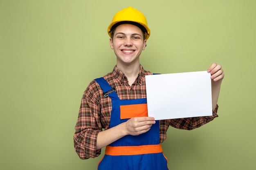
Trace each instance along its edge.
<path fill-rule="evenodd" d="M 123 85 L 124 82 L 128 82 L 128 79 L 126 77 L 126 75 L 124 75 L 123 72 L 121 72 L 117 66 L 114 67 L 113 71 L 112 71 L 112 74 L 113 76 L 115 77 L 115 79 L 117 79 L 117 81 Z M 144 75 L 145 75 L 145 70 L 144 68 L 140 65 L 140 69 L 139 69 L 139 74 L 138 74 L 138 77 L 137 79 L 135 80 L 136 83 L 138 83 L 139 85 L 141 85 L 141 82 L 144 78 Z"/>

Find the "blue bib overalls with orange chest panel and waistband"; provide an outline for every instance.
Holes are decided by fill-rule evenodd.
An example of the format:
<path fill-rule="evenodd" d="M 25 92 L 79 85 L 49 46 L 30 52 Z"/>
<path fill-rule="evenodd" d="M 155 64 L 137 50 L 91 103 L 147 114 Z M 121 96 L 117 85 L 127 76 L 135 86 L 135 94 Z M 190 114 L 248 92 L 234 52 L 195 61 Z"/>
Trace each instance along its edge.
<path fill-rule="evenodd" d="M 103 77 L 95 80 L 101 86 L 104 96 L 112 99 L 110 128 L 132 117 L 148 116 L 146 98 L 120 100 L 115 89 Z M 126 135 L 106 146 L 98 170 L 168 170 L 167 159 L 159 143 L 159 121 L 146 133 Z"/>

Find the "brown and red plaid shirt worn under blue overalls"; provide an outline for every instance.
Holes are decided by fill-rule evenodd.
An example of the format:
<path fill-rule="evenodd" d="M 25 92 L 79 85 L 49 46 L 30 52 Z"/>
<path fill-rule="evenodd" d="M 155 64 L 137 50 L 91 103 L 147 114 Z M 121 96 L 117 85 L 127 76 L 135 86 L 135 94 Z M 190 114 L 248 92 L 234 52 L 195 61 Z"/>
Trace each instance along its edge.
<path fill-rule="evenodd" d="M 116 89 L 120 99 L 140 99 L 146 98 L 145 75 L 152 74 L 140 66 L 139 75 L 132 86 L 128 84 L 127 77 L 117 66 L 111 73 L 103 77 L 110 86 Z M 74 148 L 81 159 L 94 158 L 101 154 L 101 149 L 96 150 L 97 135 L 103 129 L 109 128 L 111 109 L 110 97 L 103 96 L 103 91 L 95 80 L 90 82 L 83 93 L 74 133 Z M 217 110 L 218 105 L 213 111 L 213 116 L 160 120 L 160 143 L 166 139 L 166 131 L 169 126 L 192 130 L 218 117 Z"/>

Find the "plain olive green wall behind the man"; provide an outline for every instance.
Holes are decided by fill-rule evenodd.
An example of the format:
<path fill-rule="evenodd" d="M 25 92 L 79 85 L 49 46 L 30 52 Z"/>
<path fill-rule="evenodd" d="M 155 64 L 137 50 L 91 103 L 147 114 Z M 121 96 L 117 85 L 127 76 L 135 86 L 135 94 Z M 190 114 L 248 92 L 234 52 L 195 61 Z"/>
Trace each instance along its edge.
<path fill-rule="evenodd" d="M 170 170 L 256 169 L 255 0 L 0 0 L 0 169 L 95 170 L 74 126 L 89 82 L 112 71 L 107 27 L 132 6 L 151 36 L 141 64 L 154 73 L 225 71 L 219 117 L 169 128 Z"/>

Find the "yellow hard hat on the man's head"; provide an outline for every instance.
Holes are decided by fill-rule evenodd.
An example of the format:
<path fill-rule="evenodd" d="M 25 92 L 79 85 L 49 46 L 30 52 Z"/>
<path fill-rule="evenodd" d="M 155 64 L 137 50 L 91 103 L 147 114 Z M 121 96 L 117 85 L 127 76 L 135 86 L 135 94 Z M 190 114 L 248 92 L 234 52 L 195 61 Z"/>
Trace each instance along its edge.
<path fill-rule="evenodd" d="M 138 26 L 145 34 L 145 39 L 150 36 L 150 29 L 146 17 L 135 8 L 128 7 L 117 12 L 108 26 L 108 35 L 111 37 L 112 31 L 121 24 L 133 24 Z"/>

